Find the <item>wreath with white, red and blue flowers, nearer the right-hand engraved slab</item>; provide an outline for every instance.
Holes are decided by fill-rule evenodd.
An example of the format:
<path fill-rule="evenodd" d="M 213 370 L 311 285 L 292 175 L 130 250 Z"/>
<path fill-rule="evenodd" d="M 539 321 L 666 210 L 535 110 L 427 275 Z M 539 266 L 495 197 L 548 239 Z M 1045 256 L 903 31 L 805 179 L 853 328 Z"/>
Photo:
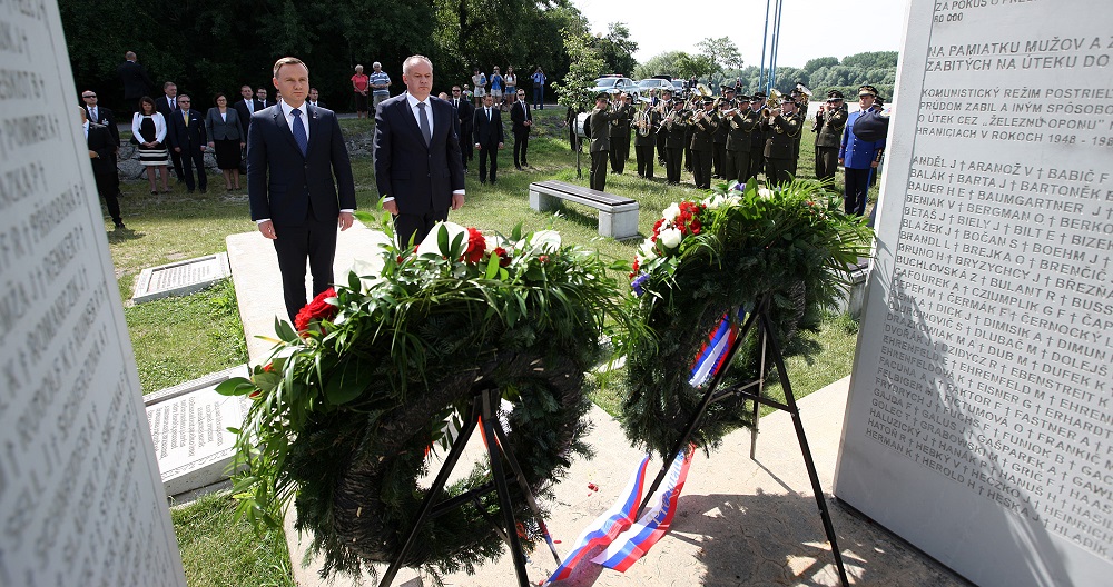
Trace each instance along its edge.
<path fill-rule="evenodd" d="M 703 396 L 689 384 L 693 359 L 725 314 L 768 300 L 784 347 L 809 317 L 835 305 L 871 235 L 841 206 L 815 181 L 769 190 L 750 180 L 664 210 L 630 273 L 633 319 L 653 334 L 631 330 L 621 341 L 629 387 L 622 425 L 631 440 L 669 456 Z M 715 447 L 741 408 L 712 404 L 692 441 Z"/>

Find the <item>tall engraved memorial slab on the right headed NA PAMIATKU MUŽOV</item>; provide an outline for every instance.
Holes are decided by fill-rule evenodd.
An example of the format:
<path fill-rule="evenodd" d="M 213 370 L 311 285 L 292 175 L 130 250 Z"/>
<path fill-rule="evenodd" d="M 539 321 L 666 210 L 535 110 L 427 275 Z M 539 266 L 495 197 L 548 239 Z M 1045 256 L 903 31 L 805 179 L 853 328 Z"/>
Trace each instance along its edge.
<path fill-rule="evenodd" d="M 1113 577 L 1111 23 L 909 8 L 835 494 L 978 585 Z"/>

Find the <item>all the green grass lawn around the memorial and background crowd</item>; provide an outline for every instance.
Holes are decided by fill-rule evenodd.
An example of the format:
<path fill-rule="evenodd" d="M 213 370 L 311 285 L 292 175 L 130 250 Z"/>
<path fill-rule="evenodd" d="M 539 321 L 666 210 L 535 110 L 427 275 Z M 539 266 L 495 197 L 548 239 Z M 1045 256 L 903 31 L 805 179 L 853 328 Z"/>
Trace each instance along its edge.
<path fill-rule="evenodd" d="M 581 153 L 582 178 L 577 178 L 575 153 L 569 150 L 567 131 L 560 125 L 563 110 L 535 112 L 536 125 L 530 141 L 530 161 L 535 169 L 514 170 L 512 142 L 500 153 L 499 182 L 481 186 L 476 181 L 479 156 L 470 165 L 466 203 L 452 212 L 455 222 L 486 231 L 509 233 L 518 223 L 528 230 L 552 226 L 564 242 L 592 247 L 605 258 L 632 260 L 640 239 L 615 241 L 598 235 L 597 212 L 575 205 L 559 213 L 530 209 L 528 187 L 531 181 L 561 179 L 588 185 L 589 157 Z M 370 149 L 372 123 L 368 120 L 342 120 L 352 138 Z M 509 127 L 509 125 L 508 125 Z M 508 137 L 510 133 L 508 132 Z M 800 176 L 811 177 L 812 137 L 806 132 L 801 145 Z M 512 139 L 510 139 L 512 141 Z M 661 211 L 671 202 L 701 197 L 684 173 L 686 186 L 666 186 L 662 177 L 653 181 L 638 178 L 631 160 L 626 173 L 610 175 L 608 191 L 638 200 L 639 226 L 648 235 Z M 658 167 L 659 176 L 663 169 Z M 363 210 L 373 210 L 377 200 L 374 169 L 370 156 L 353 157 L 356 199 Z M 246 187 L 246 178 L 242 179 Z M 120 295 L 131 296 L 135 278 L 148 267 L 225 250 L 225 238 L 255 230 L 250 221 L 247 192 L 224 191 L 223 178 L 209 176 L 208 195 L 187 195 L 181 186 L 171 193 L 151 196 L 145 180 L 126 182 L 121 208 L 127 230 L 112 231 L 106 215 L 106 230 L 116 265 Z M 277 276 L 275 276 L 277 282 Z M 233 367 L 247 360 L 243 326 L 230 280 L 191 296 L 167 298 L 125 308 L 131 342 L 144 392 L 169 387 L 201 375 Z M 804 397 L 849 372 L 854 354 L 853 322 L 830 319 L 817 335 L 809 335 L 823 347 L 811 358 L 792 357 L 788 361 L 797 397 Z M 618 414 L 622 372 L 598 376 L 602 384 L 592 399 L 607 411 Z M 776 392 L 776 386 L 770 392 Z M 293 585 L 289 559 L 280 530 L 255 535 L 246 524 L 233 521 L 229 497 L 205 498 L 175 508 L 174 523 L 190 586 L 216 585 Z"/>

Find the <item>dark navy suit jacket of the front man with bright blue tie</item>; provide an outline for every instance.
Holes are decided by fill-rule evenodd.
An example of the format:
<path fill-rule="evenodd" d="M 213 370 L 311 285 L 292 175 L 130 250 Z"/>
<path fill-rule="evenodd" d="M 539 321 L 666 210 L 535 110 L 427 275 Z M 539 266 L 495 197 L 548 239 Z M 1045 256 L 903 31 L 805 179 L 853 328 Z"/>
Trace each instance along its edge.
<path fill-rule="evenodd" d="M 309 145 L 302 155 L 282 108 L 252 115 L 247 135 L 247 198 L 252 220 L 301 226 L 312 210 L 318 221 L 335 221 L 354 210 L 355 181 L 347 147 L 332 110 L 304 105 Z"/>

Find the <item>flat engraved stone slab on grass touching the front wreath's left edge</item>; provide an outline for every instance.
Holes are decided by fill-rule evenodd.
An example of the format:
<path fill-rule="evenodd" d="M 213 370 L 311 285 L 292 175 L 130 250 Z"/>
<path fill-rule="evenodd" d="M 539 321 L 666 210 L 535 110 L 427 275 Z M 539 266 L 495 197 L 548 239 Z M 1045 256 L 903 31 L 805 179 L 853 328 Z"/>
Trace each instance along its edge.
<path fill-rule="evenodd" d="M 150 437 L 167 496 L 199 489 L 228 478 L 236 435 L 250 400 L 216 392 L 233 377 L 247 377 L 243 365 L 150 394 L 144 398 Z"/>

